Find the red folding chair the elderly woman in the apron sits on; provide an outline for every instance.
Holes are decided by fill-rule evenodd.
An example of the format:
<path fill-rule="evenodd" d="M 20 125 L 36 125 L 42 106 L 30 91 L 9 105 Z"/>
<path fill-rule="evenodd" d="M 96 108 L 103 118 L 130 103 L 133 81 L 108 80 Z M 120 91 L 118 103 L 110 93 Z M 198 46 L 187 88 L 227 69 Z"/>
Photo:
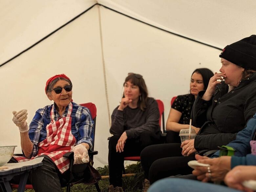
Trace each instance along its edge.
<path fill-rule="evenodd" d="M 97 115 L 97 109 L 96 109 L 96 106 L 94 103 L 83 103 L 83 104 L 80 104 L 81 106 L 84 106 L 84 107 L 87 107 L 90 112 L 91 112 L 91 116 L 92 116 L 92 119 L 94 120 L 94 132 L 93 132 L 93 141 L 95 139 L 95 128 L 96 128 L 96 115 Z M 94 151 L 94 142 L 93 142 L 93 151 L 89 151 L 89 157 L 90 157 L 90 160 L 93 160 L 93 156 L 98 154 L 98 151 Z M 71 158 L 71 161 L 70 161 L 70 164 L 73 166 L 73 152 L 69 152 L 69 153 L 66 153 L 64 156 L 68 157 L 68 158 Z M 70 166 L 70 170 L 72 170 L 72 166 Z M 70 192 L 70 188 L 71 186 L 73 186 L 74 184 L 76 183 L 83 183 L 83 179 L 81 179 L 80 181 L 78 182 L 75 182 L 75 183 L 72 183 L 69 182 L 67 183 L 67 192 Z M 100 188 L 98 186 L 98 181 L 94 183 L 95 186 L 96 186 L 96 190 L 97 192 L 100 192 Z M 11 184 L 11 188 L 13 189 L 18 189 L 19 185 L 17 184 Z M 31 184 L 28 184 L 25 186 L 25 189 L 33 189 L 33 186 Z"/>

